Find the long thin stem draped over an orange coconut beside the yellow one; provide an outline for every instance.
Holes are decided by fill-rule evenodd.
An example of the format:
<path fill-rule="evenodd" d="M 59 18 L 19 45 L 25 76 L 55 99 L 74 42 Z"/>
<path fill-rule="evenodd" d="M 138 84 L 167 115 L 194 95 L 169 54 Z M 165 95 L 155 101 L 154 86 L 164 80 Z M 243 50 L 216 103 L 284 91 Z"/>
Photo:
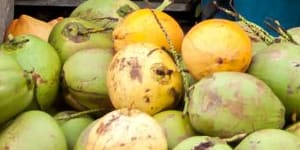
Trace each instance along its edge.
<path fill-rule="evenodd" d="M 183 86 L 184 86 L 184 102 L 185 102 L 185 106 L 184 106 L 184 110 L 183 110 L 183 114 L 186 114 L 187 113 L 187 104 L 189 102 L 189 98 L 188 98 L 188 88 L 189 88 L 189 80 L 188 80 L 188 77 L 187 77 L 187 72 L 185 72 L 184 70 L 185 67 L 183 66 L 182 64 L 182 61 L 181 61 L 181 57 L 180 55 L 176 52 L 175 50 L 175 47 L 174 47 L 174 44 L 172 42 L 172 40 L 170 39 L 170 36 L 168 35 L 167 31 L 165 30 L 165 28 L 163 27 L 163 25 L 161 24 L 161 22 L 159 21 L 158 17 L 156 16 L 155 12 L 153 10 L 151 10 L 157 24 L 159 25 L 160 29 L 162 30 L 162 32 L 164 33 L 167 41 L 168 41 L 168 44 L 170 46 L 170 49 L 168 50 L 168 53 L 170 53 L 173 57 L 173 59 L 175 60 L 175 63 L 181 73 L 181 76 L 183 78 Z"/>

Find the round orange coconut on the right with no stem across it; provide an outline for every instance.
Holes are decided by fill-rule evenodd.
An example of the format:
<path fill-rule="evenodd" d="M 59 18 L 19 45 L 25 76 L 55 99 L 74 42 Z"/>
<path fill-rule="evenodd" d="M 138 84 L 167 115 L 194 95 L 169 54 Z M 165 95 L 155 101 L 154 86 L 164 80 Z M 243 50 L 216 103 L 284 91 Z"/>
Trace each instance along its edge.
<path fill-rule="evenodd" d="M 201 79 L 217 71 L 246 71 L 251 49 L 249 36 L 235 22 L 209 19 L 188 31 L 181 50 L 187 69 Z"/>

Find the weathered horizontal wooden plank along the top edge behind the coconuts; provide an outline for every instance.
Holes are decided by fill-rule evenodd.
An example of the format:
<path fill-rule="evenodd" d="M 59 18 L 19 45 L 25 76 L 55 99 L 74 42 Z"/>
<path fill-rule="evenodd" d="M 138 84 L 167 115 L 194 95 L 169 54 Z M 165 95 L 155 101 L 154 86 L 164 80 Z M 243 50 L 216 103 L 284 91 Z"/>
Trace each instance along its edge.
<path fill-rule="evenodd" d="M 22 5 L 22 6 L 61 6 L 61 7 L 76 7 L 80 3 L 86 0 L 15 0 L 16 5 Z M 162 0 L 161 0 L 162 1 Z M 184 0 L 178 0 L 178 2 L 175 0 L 172 5 L 170 5 L 166 11 L 187 11 L 190 9 L 189 1 L 185 0 L 186 2 L 183 2 Z M 146 7 L 147 4 L 142 0 L 136 0 L 136 2 L 140 7 Z M 151 1 L 150 1 L 151 2 Z M 152 1 L 152 6 L 156 7 L 161 2 Z"/>

